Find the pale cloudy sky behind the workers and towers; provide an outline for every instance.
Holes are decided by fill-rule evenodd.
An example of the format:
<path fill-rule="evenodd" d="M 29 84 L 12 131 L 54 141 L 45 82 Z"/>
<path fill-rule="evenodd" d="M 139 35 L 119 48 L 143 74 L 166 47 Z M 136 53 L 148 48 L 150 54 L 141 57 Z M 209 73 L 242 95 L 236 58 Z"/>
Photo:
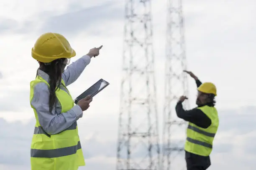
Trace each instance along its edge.
<path fill-rule="evenodd" d="M 214 82 L 220 127 L 209 170 L 253 170 L 256 147 L 254 0 L 183 0 L 187 67 L 202 82 Z M 159 133 L 164 103 L 166 1 L 152 2 Z M 120 81 L 122 78 L 124 0 L 12 0 L 0 6 L 0 169 L 29 170 L 35 124 L 29 83 L 38 63 L 31 57 L 45 32 L 64 35 L 77 57 L 103 45 L 79 79 L 68 86 L 73 98 L 103 78 L 110 85 L 94 98 L 78 121 L 86 166 L 116 165 Z M 188 77 L 190 107 L 196 85 Z M 182 94 L 181 94 L 182 95 Z M 180 157 L 182 161 L 182 157 Z M 177 160 L 179 161 L 179 160 Z M 183 162 L 184 164 L 184 162 Z"/>

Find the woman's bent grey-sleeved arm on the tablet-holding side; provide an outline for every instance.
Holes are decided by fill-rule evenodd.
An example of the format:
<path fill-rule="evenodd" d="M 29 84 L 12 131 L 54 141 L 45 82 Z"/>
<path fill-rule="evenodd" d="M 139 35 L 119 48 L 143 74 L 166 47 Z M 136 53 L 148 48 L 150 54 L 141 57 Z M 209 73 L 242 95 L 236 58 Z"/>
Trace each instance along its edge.
<path fill-rule="evenodd" d="M 55 108 L 52 112 L 49 112 L 49 89 L 44 82 L 39 82 L 34 87 L 31 106 L 36 110 L 40 125 L 49 135 L 66 130 L 83 115 L 79 105 L 75 105 L 72 109 L 64 113 L 61 113 L 60 110 L 56 110 Z"/>

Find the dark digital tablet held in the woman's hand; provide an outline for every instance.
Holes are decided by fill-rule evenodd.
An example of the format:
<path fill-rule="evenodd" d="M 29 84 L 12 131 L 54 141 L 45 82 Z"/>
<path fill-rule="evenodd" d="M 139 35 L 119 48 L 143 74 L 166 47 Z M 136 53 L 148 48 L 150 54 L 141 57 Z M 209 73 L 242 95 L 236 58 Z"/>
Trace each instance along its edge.
<path fill-rule="evenodd" d="M 79 95 L 75 100 L 74 103 L 77 104 L 77 102 L 87 95 L 91 95 L 91 97 L 97 95 L 101 90 L 103 90 L 105 87 L 109 85 L 109 82 L 106 80 L 100 79 L 99 81 L 95 82 L 94 85 L 92 85 L 90 88 L 85 90 L 81 95 Z"/>

